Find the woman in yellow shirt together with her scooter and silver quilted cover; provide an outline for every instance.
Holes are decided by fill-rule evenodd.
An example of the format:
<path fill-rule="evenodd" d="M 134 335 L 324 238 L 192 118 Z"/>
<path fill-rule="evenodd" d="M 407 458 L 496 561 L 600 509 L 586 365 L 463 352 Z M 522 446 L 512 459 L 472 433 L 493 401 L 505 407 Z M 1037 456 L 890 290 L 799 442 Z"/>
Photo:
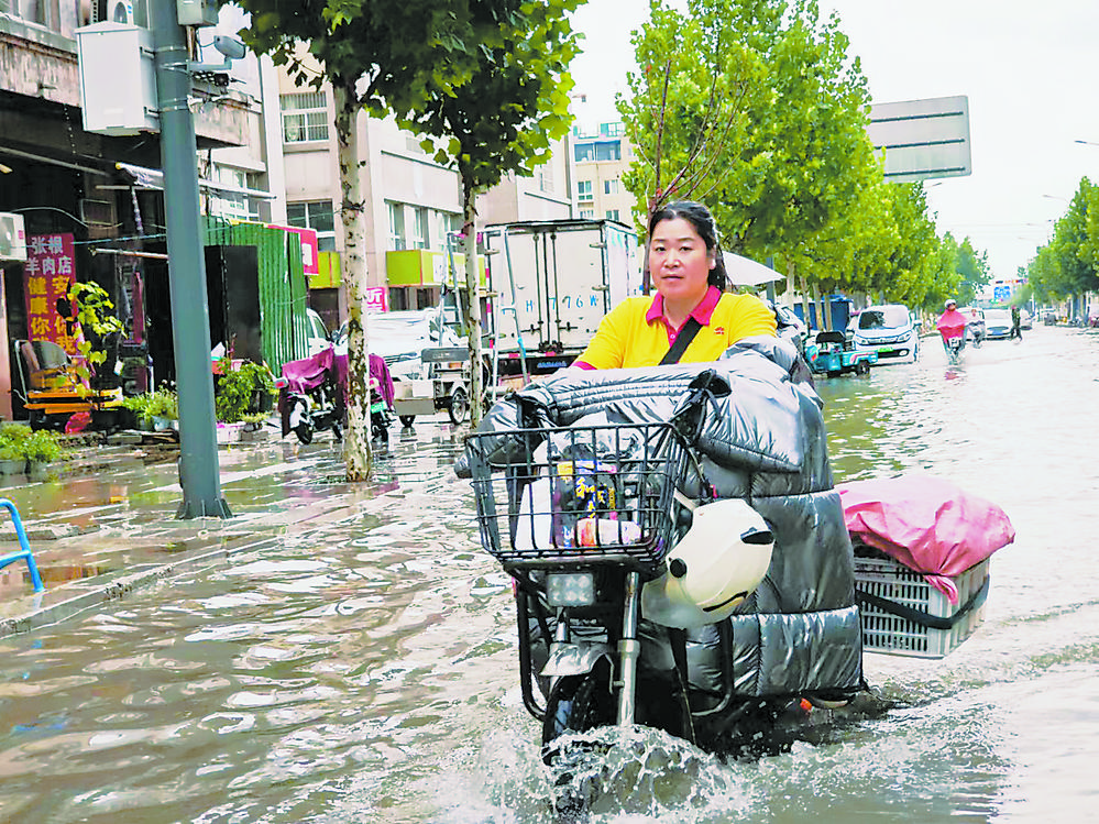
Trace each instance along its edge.
<path fill-rule="evenodd" d="M 809 380 L 798 380 L 796 351 L 776 337 L 766 304 L 723 292 L 717 232 L 704 206 L 658 211 L 648 260 L 657 294 L 618 305 L 570 369 L 498 402 L 466 443 L 482 542 L 516 570 L 524 702 L 545 722 L 549 757 L 562 734 L 615 717 L 633 723 L 635 708 L 637 723 L 736 751 L 760 743 L 793 697 L 842 702 L 862 683 L 850 542 L 827 466 L 821 402 Z M 539 427 L 557 435 L 542 437 Z M 548 585 L 571 581 L 560 573 L 597 556 L 601 542 L 608 556 L 622 545 L 613 557 L 625 560 L 614 563 L 629 563 L 627 527 L 637 518 L 645 526 L 645 513 L 669 512 L 644 505 L 635 517 L 620 503 L 664 488 L 635 465 L 637 449 L 660 454 L 653 444 L 664 441 L 649 437 L 659 427 L 674 429 L 669 439 L 682 439 L 683 454 L 693 455 L 674 463 L 685 480 L 683 494 L 672 496 L 675 506 L 704 518 L 711 502 L 744 504 L 773 536 L 776 560 L 758 591 L 741 587 L 725 600 L 737 614 L 706 612 L 713 623 L 701 626 L 657 608 L 658 596 L 683 589 L 696 565 L 678 563 L 684 559 L 675 552 L 686 551 L 678 543 L 649 570 L 659 576 L 645 579 L 640 590 L 637 581 L 633 589 L 593 583 L 573 604 L 571 590 L 565 596 Z M 633 446 L 626 443 L 630 431 L 640 433 Z M 554 437 L 565 446 L 556 446 Z M 554 463 L 554 450 L 568 470 Z M 470 462 L 460 462 L 459 474 L 470 472 Z M 498 490 L 494 470 L 502 473 Z M 597 473 L 591 490 L 584 472 Z M 579 477 L 575 491 L 547 487 L 561 477 Z M 595 495 L 593 517 L 609 529 L 594 543 L 584 543 L 579 528 L 553 531 L 573 509 L 587 512 L 578 497 L 582 487 Z M 615 512 L 600 515 L 608 507 Z M 669 521 L 678 529 L 691 517 L 675 512 Z M 655 589 L 639 600 L 645 587 Z M 600 598 L 618 598 L 627 608 L 605 607 Z M 680 606 L 690 612 L 690 604 Z M 595 631 L 591 625 L 598 622 Z M 532 679 L 545 695 L 541 708 L 529 690 Z M 607 707 L 612 701 L 617 715 Z"/>

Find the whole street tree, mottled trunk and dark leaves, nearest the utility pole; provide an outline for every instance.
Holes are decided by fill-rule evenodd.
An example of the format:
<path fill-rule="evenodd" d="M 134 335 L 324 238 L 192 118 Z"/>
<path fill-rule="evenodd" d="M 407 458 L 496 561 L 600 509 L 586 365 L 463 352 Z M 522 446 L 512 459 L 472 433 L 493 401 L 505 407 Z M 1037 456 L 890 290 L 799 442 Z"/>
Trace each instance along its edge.
<path fill-rule="evenodd" d="M 370 476 L 366 213 L 356 120 L 408 111 L 469 81 L 482 50 L 521 23 L 524 0 L 239 0 L 240 32 L 256 54 L 286 65 L 298 86 L 332 89 L 348 304 L 347 477 Z M 317 68 L 319 67 L 319 69 Z"/>

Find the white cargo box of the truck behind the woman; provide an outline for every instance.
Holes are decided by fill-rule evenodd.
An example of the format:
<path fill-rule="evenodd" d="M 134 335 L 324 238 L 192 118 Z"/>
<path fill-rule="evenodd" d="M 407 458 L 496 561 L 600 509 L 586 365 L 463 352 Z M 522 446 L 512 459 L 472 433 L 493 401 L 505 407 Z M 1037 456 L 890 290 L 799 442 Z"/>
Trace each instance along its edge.
<path fill-rule="evenodd" d="M 572 363 L 603 316 L 641 294 L 637 233 L 615 220 L 499 223 L 482 241 L 497 391 Z"/>

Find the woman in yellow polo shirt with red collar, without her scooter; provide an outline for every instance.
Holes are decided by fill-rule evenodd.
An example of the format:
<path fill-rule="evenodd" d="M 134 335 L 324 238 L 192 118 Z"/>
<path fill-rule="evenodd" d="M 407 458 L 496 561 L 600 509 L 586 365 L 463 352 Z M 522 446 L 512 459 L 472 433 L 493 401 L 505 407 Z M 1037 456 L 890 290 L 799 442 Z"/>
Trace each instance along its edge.
<path fill-rule="evenodd" d="M 628 297 L 600 322 L 579 369 L 633 369 L 716 361 L 737 341 L 776 337 L 774 312 L 754 295 L 733 295 L 713 215 L 677 201 L 649 221 L 655 295 Z"/>

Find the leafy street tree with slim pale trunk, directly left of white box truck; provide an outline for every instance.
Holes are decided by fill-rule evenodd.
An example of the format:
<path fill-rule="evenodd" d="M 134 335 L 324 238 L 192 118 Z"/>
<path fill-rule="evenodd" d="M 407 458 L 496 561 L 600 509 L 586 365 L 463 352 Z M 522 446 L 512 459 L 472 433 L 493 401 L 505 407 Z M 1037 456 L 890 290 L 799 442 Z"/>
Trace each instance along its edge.
<path fill-rule="evenodd" d="M 476 197 L 507 173 L 534 174 L 549 160 L 552 141 L 568 133 L 573 86 L 568 67 L 578 51 L 569 14 L 582 1 L 525 3 L 516 24 L 502 25 L 496 42 L 477 50 L 461 85 L 433 89 L 397 112 L 398 123 L 426 135 L 421 145 L 435 152 L 437 163 L 455 166 L 462 179 L 474 426 L 484 394 Z"/>

